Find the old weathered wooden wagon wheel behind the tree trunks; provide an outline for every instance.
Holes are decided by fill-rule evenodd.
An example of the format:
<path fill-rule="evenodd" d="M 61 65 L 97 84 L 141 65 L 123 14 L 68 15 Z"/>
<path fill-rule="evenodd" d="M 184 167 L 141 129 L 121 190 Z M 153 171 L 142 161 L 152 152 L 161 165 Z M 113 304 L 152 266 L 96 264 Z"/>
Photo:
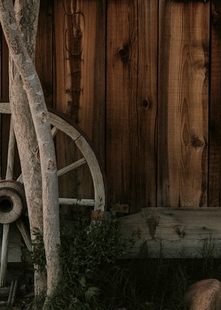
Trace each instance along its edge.
<path fill-rule="evenodd" d="M 10 114 L 10 104 L 0 103 L 0 114 Z M 52 136 L 55 137 L 59 131 L 67 135 L 82 155 L 80 159 L 68 164 L 67 166 L 58 170 L 58 184 L 59 178 L 74 169 L 81 169 L 80 167 L 87 164 L 93 184 L 93 199 L 77 199 L 77 198 L 63 198 L 59 197 L 60 205 L 83 205 L 93 207 L 94 210 L 104 210 L 105 207 L 105 182 L 104 176 L 99 164 L 97 156 L 91 148 L 91 144 L 87 136 L 81 129 L 75 125 L 69 118 L 50 110 L 50 122 Z M 2 140 L 2 139 L 1 139 Z M 13 132 L 12 122 L 10 123 L 9 141 L 7 146 L 7 166 L 6 175 L 2 176 L 0 173 L 0 224 L 3 225 L 2 244 L 1 244 L 1 260 L 0 260 L 0 287 L 6 281 L 6 269 L 9 247 L 9 228 L 12 222 L 15 222 L 21 235 L 25 241 L 28 249 L 32 249 L 30 234 L 21 220 L 21 215 L 26 210 L 25 190 L 23 187 L 22 175 L 18 177 L 14 175 L 14 148 L 15 136 Z M 0 141 L 2 145 L 2 141 Z M 2 150 L 0 150 L 2 151 Z M 0 152 L 0 167 L 2 165 L 2 152 Z"/>

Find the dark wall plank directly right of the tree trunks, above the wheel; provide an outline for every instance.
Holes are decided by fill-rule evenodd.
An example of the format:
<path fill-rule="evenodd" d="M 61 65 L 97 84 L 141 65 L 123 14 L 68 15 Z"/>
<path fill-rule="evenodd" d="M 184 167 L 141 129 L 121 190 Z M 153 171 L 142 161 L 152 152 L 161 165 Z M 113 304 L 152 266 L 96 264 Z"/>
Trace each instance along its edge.
<path fill-rule="evenodd" d="M 53 95 L 53 0 L 41 0 L 36 38 L 36 70 L 44 91 L 47 107 Z"/>

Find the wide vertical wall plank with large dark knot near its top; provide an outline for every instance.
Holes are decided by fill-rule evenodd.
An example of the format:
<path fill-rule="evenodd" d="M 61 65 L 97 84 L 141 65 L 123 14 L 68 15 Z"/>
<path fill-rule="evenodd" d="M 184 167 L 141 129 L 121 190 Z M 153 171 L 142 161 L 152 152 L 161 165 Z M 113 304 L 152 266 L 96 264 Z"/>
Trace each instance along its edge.
<path fill-rule="evenodd" d="M 137 182 L 137 1 L 107 5 L 106 172 L 108 201 L 131 205 Z"/>

